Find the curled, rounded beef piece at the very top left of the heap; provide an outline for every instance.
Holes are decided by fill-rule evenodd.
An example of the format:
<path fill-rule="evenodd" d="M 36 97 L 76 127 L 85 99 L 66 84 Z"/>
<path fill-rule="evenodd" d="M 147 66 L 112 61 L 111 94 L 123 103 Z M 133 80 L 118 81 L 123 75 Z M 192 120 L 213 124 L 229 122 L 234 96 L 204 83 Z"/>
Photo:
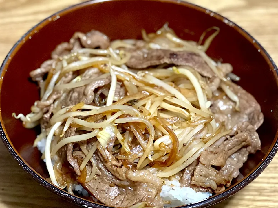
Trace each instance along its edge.
<path fill-rule="evenodd" d="M 107 49 L 110 45 L 110 39 L 103 33 L 97 30 L 91 30 L 89 32 L 81 33 L 76 32 L 70 39 L 70 43 L 78 47 L 81 43 L 81 45 L 85 48 L 101 48 L 101 49 Z"/>

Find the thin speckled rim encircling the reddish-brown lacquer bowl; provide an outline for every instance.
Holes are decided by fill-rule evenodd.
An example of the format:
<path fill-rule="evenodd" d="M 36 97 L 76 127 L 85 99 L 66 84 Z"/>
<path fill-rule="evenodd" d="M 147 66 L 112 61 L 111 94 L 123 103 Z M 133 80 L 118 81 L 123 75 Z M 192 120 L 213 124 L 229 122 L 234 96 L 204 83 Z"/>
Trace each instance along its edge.
<path fill-rule="evenodd" d="M 102 3 L 102 2 L 106 2 L 106 1 L 121 1 L 121 0 L 89 0 L 89 1 L 85 1 L 85 2 L 82 2 L 82 3 L 75 4 L 75 5 L 71 5 L 71 6 L 65 8 L 63 10 L 60 10 L 60 11 L 52 14 L 51 16 L 48 16 L 47 18 L 43 19 L 39 23 L 37 23 L 34 27 L 32 27 L 29 31 L 27 31 L 14 44 L 12 49 L 10 49 L 10 51 L 8 52 L 7 56 L 5 57 L 2 65 L 0 67 L 1 77 L 4 77 L 5 72 L 6 72 L 5 69 L 8 67 L 8 65 L 10 63 L 10 60 L 12 59 L 11 57 L 14 56 L 14 54 L 21 47 L 22 43 L 25 42 L 25 39 L 27 39 L 28 36 L 33 33 L 33 31 L 35 31 L 35 33 L 36 33 L 36 30 L 39 30 L 40 28 L 44 27 L 50 21 L 52 21 L 52 20 L 55 21 L 57 19 L 57 16 L 59 16 L 59 17 L 63 16 L 65 14 L 67 14 L 68 12 L 72 12 L 72 10 L 82 8 L 83 6 L 86 6 L 86 5 L 93 5 L 93 4 L 96 4 L 96 3 Z M 140 1 L 140 0 L 136 0 L 136 1 Z M 150 0 L 145 0 L 145 1 L 150 1 Z M 277 78 L 276 80 L 278 80 L 278 69 L 277 69 L 277 66 L 275 65 L 274 61 L 270 57 L 270 55 L 261 46 L 261 44 L 259 44 L 259 42 L 257 40 L 255 40 L 255 38 L 253 38 L 253 36 L 251 36 L 248 32 L 246 32 L 244 29 L 239 27 L 233 21 L 230 21 L 229 19 L 227 19 L 224 16 L 218 14 L 217 12 L 213 12 L 209 9 L 206 9 L 206 8 L 201 7 L 201 6 L 198 6 L 198 5 L 195 5 L 193 3 L 186 2 L 186 1 L 182 1 L 182 0 L 152 0 L 152 1 L 180 4 L 180 5 L 186 6 L 190 9 L 198 10 L 200 12 L 206 13 L 206 14 L 210 15 L 211 17 L 216 18 L 219 21 L 223 21 L 226 24 L 228 24 L 229 26 L 233 27 L 245 39 L 247 39 L 251 44 L 253 44 L 253 46 L 255 48 L 258 49 L 258 51 L 264 57 L 264 60 L 268 63 L 270 68 L 272 68 L 272 71 L 276 72 L 276 73 L 273 72 L 273 75 Z M 2 86 L 2 81 L 3 81 L 3 78 L 0 80 L 0 89 L 1 89 L 1 86 Z M 277 81 L 277 86 L 278 86 L 278 81 Z M 43 185 L 45 188 L 47 188 L 51 192 L 58 194 L 59 196 L 63 197 L 64 199 L 66 199 L 66 200 L 68 200 L 68 201 L 70 201 L 70 202 L 72 202 L 76 205 L 84 206 L 84 207 L 87 207 L 87 208 L 91 208 L 91 207 L 94 207 L 94 208 L 107 207 L 107 208 L 109 208 L 109 207 L 111 207 L 111 206 L 107 206 L 107 205 L 100 204 L 100 203 L 94 203 L 94 202 L 91 202 L 89 200 L 83 199 L 81 197 L 69 194 L 68 192 L 66 192 L 66 191 L 50 184 L 49 182 L 47 182 L 38 172 L 36 172 L 31 166 L 29 166 L 26 163 L 26 161 L 19 155 L 19 153 L 14 148 L 14 146 L 12 145 L 12 142 L 10 141 L 10 139 L 8 137 L 6 129 L 3 125 L 1 109 L 0 109 L 0 137 L 3 141 L 3 143 L 5 144 L 6 148 L 8 149 L 8 151 L 12 155 L 12 157 L 15 160 L 17 160 L 17 162 L 23 168 L 23 170 L 30 173 L 32 175 L 32 177 L 38 183 Z M 241 190 L 243 187 L 245 187 L 250 182 L 252 182 L 259 174 L 261 174 L 261 172 L 266 168 L 266 166 L 268 166 L 270 161 L 273 159 L 273 157 L 275 156 L 275 154 L 278 151 L 278 140 L 277 140 L 277 138 L 278 138 L 278 130 L 276 132 L 275 138 L 274 138 L 270 148 L 268 149 L 268 151 L 266 153 L 266 156 L 260 161 L 260 163 L 250 173 L 248 173 L 246 175 L 246 177 L 244 177 L 244 179 L 242 179 L 241 181 L 232 185 L 231 187 L 226 189 L 224 192 L 222 192 L 220 194 L 216 194 L 216 195 L 214 195 L 214 196 L 212 196 L 212 197 L 210 197 L 210 198 L 208 198 L 204 201 L 200 201 L 200 202 L 197 202 L 197 203 L 192 203 L 192 204 L 189 204 L 189 205 L 183 205 L 183 206 L 179 206 L 179 207 L 180 208 L 205 208 L 205 207 L 211 206 L 213 204 L 219 203 L 222 200 L 225 200 L 226 198 L 232 196 L 233 194 L 235 194 L 236 192 Z"/>

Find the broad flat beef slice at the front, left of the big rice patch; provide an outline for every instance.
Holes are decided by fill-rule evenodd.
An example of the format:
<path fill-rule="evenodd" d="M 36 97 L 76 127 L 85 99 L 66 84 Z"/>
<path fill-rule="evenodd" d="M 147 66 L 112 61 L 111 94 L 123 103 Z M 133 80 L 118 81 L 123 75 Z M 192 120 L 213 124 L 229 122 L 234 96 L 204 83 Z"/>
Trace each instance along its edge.
<path fill-rule="evenodd" d="M 97 172 L 91 181 L 82 185 L 101 203 L 130 207 L 140 202 L 147 202 L 149 207 L 163 207 L 163 201 L 159 196 L 160 186 L 163 183 L 161 179 L 149 171 L 133 172 L 126 167 L 113 166 L 112 163 L 105 161 L 99 151 L 93 157 L 100 172 Z M 87 175 L 89 174 L 90 172 L 87 172 Z"/>

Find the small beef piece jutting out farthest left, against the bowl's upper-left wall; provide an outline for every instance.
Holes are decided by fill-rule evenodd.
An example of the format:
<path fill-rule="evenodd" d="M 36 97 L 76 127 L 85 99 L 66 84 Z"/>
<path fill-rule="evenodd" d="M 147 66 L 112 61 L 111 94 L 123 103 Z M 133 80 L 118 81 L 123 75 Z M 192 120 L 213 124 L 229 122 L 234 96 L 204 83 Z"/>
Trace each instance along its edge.
<path fill-rule="evenodd" d="M 47 60 L 43 62 L 40 66 L 40 68 L 37 68 L 36 70 L 31 71 L 30 77 L 33 81 L 43 81 L 43 76 L 48 73 L 52 68 L 55 68 L 56 61 L 53 59 Z"/>

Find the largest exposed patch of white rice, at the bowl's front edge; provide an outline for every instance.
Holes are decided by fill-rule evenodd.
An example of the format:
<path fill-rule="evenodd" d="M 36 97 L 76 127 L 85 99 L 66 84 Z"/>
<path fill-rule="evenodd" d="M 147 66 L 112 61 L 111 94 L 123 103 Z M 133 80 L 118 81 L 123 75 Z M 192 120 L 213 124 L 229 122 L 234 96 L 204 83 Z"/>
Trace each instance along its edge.
<path fill-rule="evenodd" d="M 195 192 L 189 187 L 180 187 L 178 181 L 165 179 L 165 184 L 161 187 L 160 197 L 163 200 L 171 201 L 164 207 L 176 207 L 205 200 L 212 196 L 210 192 Z"/>

